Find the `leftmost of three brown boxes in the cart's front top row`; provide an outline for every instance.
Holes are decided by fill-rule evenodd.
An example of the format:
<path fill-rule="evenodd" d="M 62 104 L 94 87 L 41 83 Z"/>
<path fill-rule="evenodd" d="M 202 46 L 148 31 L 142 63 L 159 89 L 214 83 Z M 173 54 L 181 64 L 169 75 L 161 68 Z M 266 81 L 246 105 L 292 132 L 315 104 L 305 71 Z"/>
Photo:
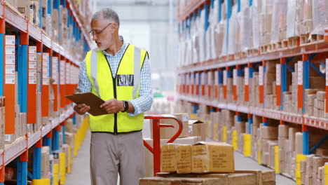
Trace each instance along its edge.
<path fill-rule="evenodd" d="M 176 144 L 165 144 L 160 147 L 160 172 L 177 171 L 176 153 Z"/>

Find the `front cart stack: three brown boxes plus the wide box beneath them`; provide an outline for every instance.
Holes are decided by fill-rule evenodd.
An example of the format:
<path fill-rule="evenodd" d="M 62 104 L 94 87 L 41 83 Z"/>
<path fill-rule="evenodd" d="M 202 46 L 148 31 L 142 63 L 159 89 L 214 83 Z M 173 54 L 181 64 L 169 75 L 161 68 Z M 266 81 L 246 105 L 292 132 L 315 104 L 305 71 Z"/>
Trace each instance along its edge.
<path fill-rule="evenodd" d="M 160 158 L 161 172 L 140 184 L 275 184 L 272 170 L 235 170 L 233 146 L 225 143 L 166 144 Z"/>

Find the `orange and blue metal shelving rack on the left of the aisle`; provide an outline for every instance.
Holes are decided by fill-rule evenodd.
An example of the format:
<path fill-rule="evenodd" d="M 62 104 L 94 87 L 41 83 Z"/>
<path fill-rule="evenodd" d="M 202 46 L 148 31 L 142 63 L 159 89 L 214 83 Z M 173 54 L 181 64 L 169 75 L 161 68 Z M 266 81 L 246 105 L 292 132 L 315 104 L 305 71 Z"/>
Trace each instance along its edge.
<path fill-rule="evenodd" d="M 42 0 L 41 0 L 42 1 Z M 51 0 L 48 0 L 48 4 L 51 4 Z M 60 11 L 60 5 L 62 5 L 64 8 L 67 8 L 69 15 L 68 15 L 68 25 L 71 25 L 73 27 L 73 36 L 77 38 L 81 38 L 83 36 L 83 44 L 84 44 L 84 52 L 87 52 L 90 50 L 90 46 L 92 45 L 92 41 L 90 39 L 90 36 L 88 36 L 85 28 L 83 28 L 83 25 L 81 24 L 81 20 L 78 18 L 78 14 L 76 13 L 76 9 L 74 8 L 71 0 L 53 0 L 53 6 L 54 9 L 57 9 Z M 48 14 L 51 15 L 52 10 L 48 9 Z M 40 18 L 42 15 L 39 15 Z M 64 48 L 63 46 L 60 46 L 59 43 L 56 41 L 53 41 L 50 39 L 49 36 L 46 35 L 46 33 L 41 29 L 41 25 L 39 27 L 36 27 L 33 25 L 29 20 L 25 19 L 17 13 L 17 11 L 14 11 L 11 6 L 8 6 L 4 0 L 0 1 L 0 41 L 4 41 L 4 37 L 6 36 L 6 24 L 10 24 L 10 26 L 14 27 L 16 30 L 18 30 L 18 35 L 20 36 L 20 45 L 22 46 L 22 57 L 18 57 L 18 63 L 21 62 L 23 66 L 19 66 L 19 70 L 22 70 L 23 77 L 20 78 L 22 81 L 22 90 L 24 95 L 22 96 L 22 107 L 21 107 L 21 113 L 27 113 L 29 109 L 27 109 L 27 100 L 30 98 L 27 95 L 29 88 L 27 81 L 27 73 L 28 73 L 28 46 L 29 41 L 32 41 L 32 43 L 36 43 L 36 50 L 38 53 L 43 53 L 45 50 L 43 49 L 43 46 L 46 48 L 46 52 L 49 53 L 49 57 L 57 57 L 58 59 L 58 74 L 59 74 L 59 66 L 61 62 L 64 62 L 65 65 L 70 65 L 71 67 L 74 67 L 77 69 L 79 67 L 79 63 L 81 61 L 78 61 L 76 57 L 71 55 L 71 53 L 67 52 L 67 48 Z M 59 24 L 58 24 L 59 26 Z M 4 50 L 4 44 L 0 45 L 0 50 Z M 53 55 L 54 54 L 54 55 Z M 4 53 L 2 54 L 4 56 Z M 51 61 L 51 60 L 50 60 Z M 4 57 L 0 58 L 0 65 L 4 66 Z M 1 70 L 4 70 L 4 67 L 0 67 Z M 49 77 L 51 77 L 52 71 L 49 70 Z M 64 74 L 61 74 L 61 76 L 65 76 Z M 4 71 L 0 71 L 0 81 L 4 81 Z M 26 76 L 25 76 L 26 75 Z M 25 76 L 25 77 L 24 77 Z M 59 78 L 59 77 L 58 77 Z M 65 78 L 64 78 L 65 79 Z M 67 77 L 69 79 L 69 77 Z M 2 86 L 3 83 L 1 83 Z M 58 88 L 63 90 L 58 94 L 58 98 L 60 97 L 61 102 L 60 108 L 64 109 L 62 114 L 57 116 L 55 119 L 53 119 L 50 123 L 47 123 L 42 128 L 39 128 L 39 130 L 36 130 L 32 134 L 26 134 L 25 137 L 20 137 L 19 139 L 15 140 L 12 144 L 8 144 L 5 146 L 4 151 L 0 150 L 0 185 L 4 184 L 4 170 L 5 166 L 8 165 L 8 163 L 11 163 L 11 161 L 15 160 L 15 158 L 20 158 L 18 160 L 18 184 L 27 184 L 27 151 L 29 148 L 34 147 L 34 152 L 39 153 L 39 158 L 41 158 L 41 150 L 38 150 L 42 146 L 42 139 L 44 137 L 43 145 L 50 146 L 51 149 L 59 150 L 59 141 L 60 141 L 60 135 L 59 131 L 60 128 L 63 128 L 63 135 L 64 135 L 64 127 L 65 123 L 64 121 L 67 118 L 70 118 L 74 116 L 74 111 L 71 106 L 71 103 L 68 100 L 64 100 L 64 95 L 68 95 L 71 93 L 74 93 L 74 87 L 76 86 L 76 83 L 72 83 L 70 81 L 69 83 L 59 83 L 57 84 Z M 48 88 L 48 87 L 46 87 Z M 33 91 L 33 90 L 32 90 Z M 0 88 L 0 95 L 4 96 L 6 93 L 4 93 L 4 88 Z M 33 95 L 32 95 L 33 96 Z M 35 95 L 34 95 L 35 96 Z M 6 97 L 7 98 L 7 97 Z M 47 97 L 48 98 L 48 97 Z M 45 100 L 44 100 L 45 101 Z M 57 101 L 57 100 L 56 100 Z M 46 101 L 45 101 L 46 102 Z M 8 104 L 6 100 L 6 104 Z M 36 109 L 36 105 L 33 107 Z M 59 110 L 57 110 L 59 111 Z M 49 114 L 49 113 L 48 113 Z M 36 123 L 36 122 L 34 122 Z M 6 124 L 6 123 L 5 123 Z M 53 140 L 53 141 L 52 141 Z M 54 146 L 52 147 L 51 143 L 54 143 Z M 39 160 L 39 163 L 36 163 L 36 167 L 34 169 L 34 174 L 32 174 L 33 179 L 41 179 L 41 159 Z"/>

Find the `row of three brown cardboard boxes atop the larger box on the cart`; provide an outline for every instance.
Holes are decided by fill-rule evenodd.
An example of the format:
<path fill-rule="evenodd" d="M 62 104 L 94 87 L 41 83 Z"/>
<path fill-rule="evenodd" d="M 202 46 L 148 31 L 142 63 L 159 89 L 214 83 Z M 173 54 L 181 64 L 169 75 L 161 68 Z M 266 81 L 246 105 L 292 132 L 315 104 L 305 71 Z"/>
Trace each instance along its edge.
<path fill-rule="evenodd" d="M 168 144 L 161 147 L 161 172 L 234 172 L 233 146 L 219 142 Z"/>

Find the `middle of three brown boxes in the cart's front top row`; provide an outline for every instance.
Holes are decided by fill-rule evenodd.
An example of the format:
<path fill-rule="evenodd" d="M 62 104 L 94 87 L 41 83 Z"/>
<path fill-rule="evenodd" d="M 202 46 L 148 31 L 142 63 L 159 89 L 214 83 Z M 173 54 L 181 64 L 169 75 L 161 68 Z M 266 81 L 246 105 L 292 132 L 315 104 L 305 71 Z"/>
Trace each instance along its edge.
<path fill-rule="evenodd" d="M 191 173 L 191 145 L 177 145 L 177 173 Z"/>

